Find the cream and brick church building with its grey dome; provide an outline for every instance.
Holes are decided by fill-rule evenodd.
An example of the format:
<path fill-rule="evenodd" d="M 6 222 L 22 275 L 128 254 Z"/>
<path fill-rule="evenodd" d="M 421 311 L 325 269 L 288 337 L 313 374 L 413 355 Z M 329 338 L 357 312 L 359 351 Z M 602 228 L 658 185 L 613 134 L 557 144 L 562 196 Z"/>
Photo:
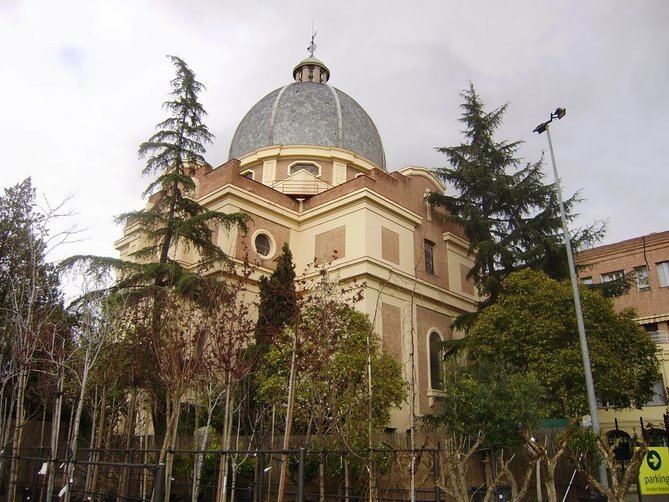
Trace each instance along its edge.
<path fill-rule="evenodd" d="M 322 61 L 312 53 L 292 77 L 242 118 L 227 162 L 195 173 L 194 197 L 250 216 L 246 234 L 220 230 L 214 239 L 233 258 L 248 253 L 257 277 L 271 274 L 288 243 L 298 275 L 316 260 L 342 282 L 364 281 L 358 308 L 406 380 L 415 375 L 416 413 L 429 413 L 441 392 L 438 342 L 459 336 L 453 318 L 475 308 L 463 231 L 426 203 L 427 192 L 445 190 L 429 169 L 388 170 L 374 122 L 329 84 Z M 122 258 L 138 249 L 138 238 L 132 225 L 125 229 L 116 242 Z M 408 405 L 391 425 L 409 426 Z"/>

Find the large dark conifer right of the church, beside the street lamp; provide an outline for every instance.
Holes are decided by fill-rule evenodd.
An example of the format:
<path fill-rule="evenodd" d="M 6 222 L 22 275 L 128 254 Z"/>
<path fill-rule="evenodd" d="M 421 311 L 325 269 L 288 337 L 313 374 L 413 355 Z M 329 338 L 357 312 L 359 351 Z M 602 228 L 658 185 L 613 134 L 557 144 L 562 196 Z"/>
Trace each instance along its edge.
<path fill-rule="evenodd" d="M 496 301 L 502 280 L 515 270 L 538 269 L 562 279 L 568 269 L 555 187 L 543 181 L 543 159 L 524 162 L 517 156 L 522 141 L 494 138 L 508 104 L 486 111 L 472 84 L 461 96 L 465 141 L 437 148 L 452 167 L 436 171 L 457 194 L 432 193 L 428 200 L 444 207 L 447 218 L 464 229 L 474 257 L 468 278 L 484 298 L 480 310 Z M 578 194 L 565 201 L 570 222 L 579 201 Z M 579 229 L 572 246 L 601 238 L 603 230 L 601 224 Z M 465 315 L 458 324 L 466 327 L 471 320 Z"/>

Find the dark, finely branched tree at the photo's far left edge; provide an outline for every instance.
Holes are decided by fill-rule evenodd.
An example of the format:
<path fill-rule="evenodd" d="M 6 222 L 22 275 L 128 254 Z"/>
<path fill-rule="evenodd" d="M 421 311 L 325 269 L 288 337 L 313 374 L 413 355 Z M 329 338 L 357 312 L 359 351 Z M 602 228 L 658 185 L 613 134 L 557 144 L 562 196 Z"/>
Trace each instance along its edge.
<path fill-rule="evenodd" d="M 11 363 L 3 364 L 3 385 L 12 382 L 13 414 L 12 458 L 9 473 L 9 500 L 15 500 L 19 455 L 26 423 L 26 388 L 32 371 L 37 370 L 36 355 L 40 343 L 54 332 L 67 330 L 55 268 L 49 264 L 50 253 L 71 242 L 74 228 L 52 231 L 71 216 L 65 211 L 68 200 L 57 206 L 48 202 L 38 207 L 30 180 L 5 192 L 0 211 L 0 245 L 4 252 L 0 267 L 3 291 L 2 329 L 11 337 L 6 354 Z M 7 423 L 7 422 L 6 422 Z M 8 423 L 7 423 L 8 425 Z M 6 426 L 5 426 L 6 427 Z M 4 434 L 3 434 L 4 435 Z"/>

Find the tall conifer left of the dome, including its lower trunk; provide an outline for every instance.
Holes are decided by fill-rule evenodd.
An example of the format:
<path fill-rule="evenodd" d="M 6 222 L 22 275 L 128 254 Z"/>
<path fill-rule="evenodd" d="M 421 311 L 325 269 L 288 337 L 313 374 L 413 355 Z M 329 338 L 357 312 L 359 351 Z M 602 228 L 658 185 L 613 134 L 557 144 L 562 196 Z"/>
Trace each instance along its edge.
<path fill-rule="evenodd" d="M 149 204 L 139 211 L 120 215 L 120 223 L 137 225 L 138 242 L 143 247 L 131 253 L 127 260 L 100 256 L 73 256 L 64 260 L 63 267 L 83 264 L 86 272 L 103 278 L 116 272 L 116 280 L 108 289 L 132 297 L 129 309 L 151 306 L 152 316 L 147 340 L 163 341 L 169 330 L 169 319 L 163 319 L 163 306 L 173 301 L 176 293 L 186 300 L 204 304 L 211 302 L 207 291 L 219 278 L 205 275 L 217 262 L 227 261 L 225 252 L 212 241 L 212 228 L 216 225 L 229 229 L 235 225 L 246 230 L 246 216 L 242 213 L 226 214 L 209 210 L 194 198 L 193 176 L 198 169 L 210 166 L 204 159 L 205 145 L 213 135 L 202 122 L 206 112 L 198 101 L 204 86 L 195 74 L 178 57 L 169 56 L 176 69 L 170 82 L 172 92 L 163 107 L 168 117 L 156 126 L 156 133 L 139 147 L 139 156 L 146 158 L 145 176 L 157 175 L 144 192 Z M 199 256 L 196 266 L 185 266 L 177 260 L 177 251 L 193 249 Z M 99 292 L 97 292 L 99 293 Z M 96 293 L 93 293 L 96 294 Z M 137 340 L 141 344 L 146 340 Z M 133 352 L 133 356 L 138 355 Z M 142 356 L 148 356 L 146 361 Z M 146 354 L 134 357 L 133 364 L 157 367 L 156 347 Z M 149 389 L 154 396 L 153 424 L 157 434 L 166 424 L 166 389 L 159 375 L 141 373 L 146 380 L 135 381 Z M 169 429 L 169 427 L 167 427 Z M 168 434 L 165 438 L 169 437 Z"/>

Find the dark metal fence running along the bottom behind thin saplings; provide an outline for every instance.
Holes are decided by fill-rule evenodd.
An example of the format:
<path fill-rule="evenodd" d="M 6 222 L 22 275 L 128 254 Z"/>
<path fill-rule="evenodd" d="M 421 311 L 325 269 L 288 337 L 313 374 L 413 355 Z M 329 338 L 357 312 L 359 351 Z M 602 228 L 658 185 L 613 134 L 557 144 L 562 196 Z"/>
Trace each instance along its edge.
<path fill-rule="evenodd" d="M 177 449 L 167 452 L 164 463 L 159 463 L 157 449 L 80 449 L 76 459 L 64 449 L 57 453 L 57 458 L 50 460 L 48 449 L 22 448 L 18 458 L 18 500 L 60 500 L 59 494 L 67 484 L 68 462 L 73 462 L 70 492 L 74 501 L 270 502 L 277 500 L 284 459 L 286 501 L 409 501 L 412 491 L 413 499 L 418 502 L 448 500 L 439 488 L 439 451 L 431 448 L 413 451 L 388 448 L 371 452 L 304 448 L 286 451 Z M 0 477 L 0 498 L 4 500 L 11 452 L 3 455 L 5 468 Z M 476 464 L 470 480 L 472 501 L 482 500 L 485 493 L 482 462 Z M 45 474 L 47 465 L 55 466 L 50 497 Z M 199 475 L 195 476 L 195 472 Z M 564 476 L 559 477 L 568 479 L 566 476 L 570 474 L 567 469 Z M 558 482 L 558 491 L 564 493 L 566 485 Z M 507 493 L 508 487 L 500 487 L 496 500 L 509 500 Z M 534 496 L 535 493 L 530 492 L 527 500 L 536 500 Z"/>

